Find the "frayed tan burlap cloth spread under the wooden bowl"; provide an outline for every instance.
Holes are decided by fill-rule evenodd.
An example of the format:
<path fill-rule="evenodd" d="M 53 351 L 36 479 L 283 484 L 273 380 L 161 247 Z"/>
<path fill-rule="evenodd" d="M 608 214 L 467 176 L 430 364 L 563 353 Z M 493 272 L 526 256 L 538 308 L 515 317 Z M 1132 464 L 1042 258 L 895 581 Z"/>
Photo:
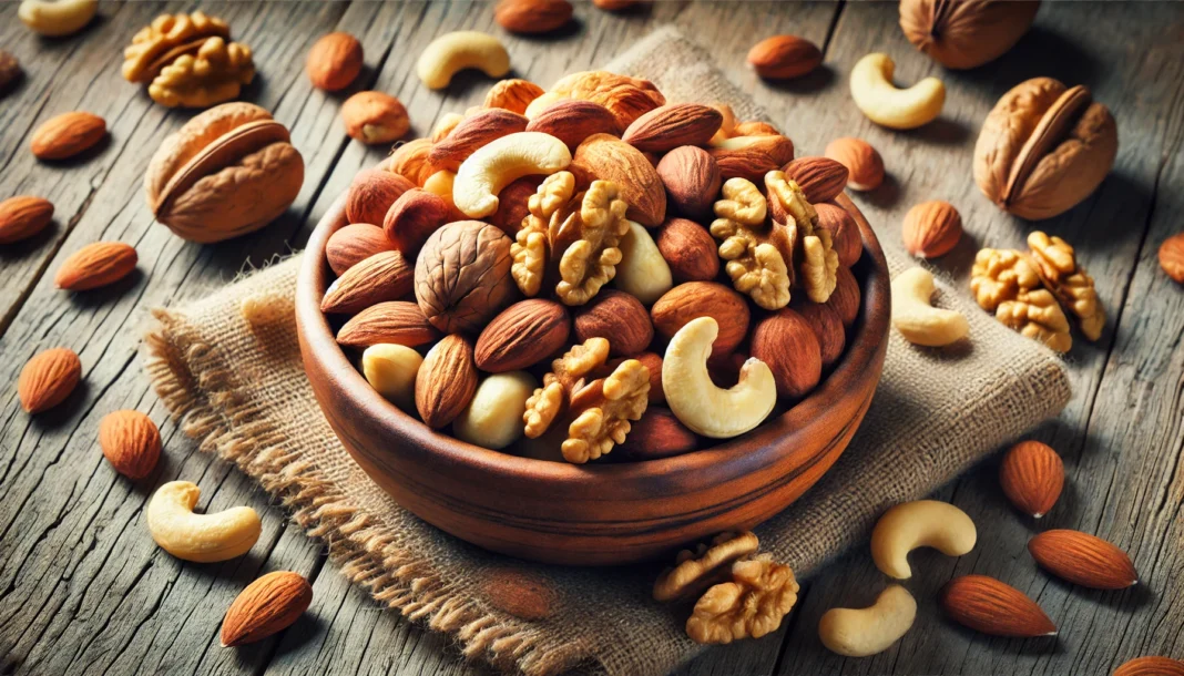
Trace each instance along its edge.
<path fill-rule="evenodd" d="M 725 101 L 741 118 L 764 117 L 704 51 L 669 28 L 607 67 L 652 79 L 671 101 Z M 894 231 L 881 234 L 893 272 L 909 265 Z M 290 301 L 297 266 L 289 259 L 156 313 L 148 373 L 202 449 L 234 462 L 326 541 L 341 574 L 449 632 L 466 656 L 528 675 L 645 676 L 696 652 L 686 617 L 650 600 L 655 568 L 562 568 L 490 554 L 379 490 L 329 430 L 301 367 Z M 260 315 L 276 301 L 281 313 Z M 883 380 L 850 448 L 758 529 L 762 547 L 799 575 L 864 539 L 887 506 L 928 494 L 1068 401 L 1064 368 L 1050 352 L 1003 328 L 963 291 L 942 284 L 938 302 L 966 315 L 970 345 L 925 350 L 892 331 Z"/>

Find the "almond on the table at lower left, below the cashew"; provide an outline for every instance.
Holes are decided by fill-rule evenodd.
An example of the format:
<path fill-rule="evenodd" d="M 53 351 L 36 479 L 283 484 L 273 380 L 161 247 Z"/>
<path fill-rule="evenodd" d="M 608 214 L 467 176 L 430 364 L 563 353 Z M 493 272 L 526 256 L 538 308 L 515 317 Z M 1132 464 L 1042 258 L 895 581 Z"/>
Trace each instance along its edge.
<path fill-rule="evenodd" d="M 268 573 L 243 590 L 223 619 L 221 645 L 243 645 L 288 629 L 313 603 L 313 587 L 288 571 Z"/>

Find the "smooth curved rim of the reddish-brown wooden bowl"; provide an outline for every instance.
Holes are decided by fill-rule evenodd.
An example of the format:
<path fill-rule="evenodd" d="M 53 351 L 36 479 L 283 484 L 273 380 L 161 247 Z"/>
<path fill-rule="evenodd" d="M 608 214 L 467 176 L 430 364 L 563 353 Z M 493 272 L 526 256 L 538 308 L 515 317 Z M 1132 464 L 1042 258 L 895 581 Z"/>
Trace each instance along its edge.
<path fill-rule="evenodd" d="M 341 405 L 356 408 L 361 414 L 373 418 L 374 424 L 391 430 L 394 442 L 392 446 L 399 449 L 400 453 L 419 456 L 419 459 L 437 462 L 443 466 L 480 470 L 485 472 L 483 476 L 488 476 L 490 482 L 507 481 L 507 487 L 525 487 L 532 494 L 559 490 L 573 496 L 609 497 L 604 489 L 606 479 L 638 485 L 638 482 L 652 482 L 661 477 L 671 483 L 686 479 L 691 485 L 699 485 L 700 482 L 694 481 L 695 474 L 706 468 L 713 468 L 712 484 L 718 485 L 776 464 L 793 453 L 802 445 L 793 443 L 794 438 L 809 434 L 811 423 L 851 392 L 864 376 L 864 371 L 877 360 L 881 341 L 888 340 L 890 291 L 883 250 L 871 226 L 850 198 L 841 193 L 835 201 L 855 219 L 864 251 L 864 256 L 852 266 L 861 270 L 864 279 L 861 284 L 860 314 L 843 356 L 806 398 L 781 411 L 776 418 L 766 419 L 754 430 L 707 449 L 636 462 L 583 465 L 559 463 L 485 449 L 437 432 L 387 401 L 371 387 L 346 350 L 337 345 L 328 317 L 320 308 L 329 284 L 324 249 L 329 236 L 346 225 L 345 195 L 339 197 L 317 223 L 301 262 L 295 303 L 302 348 L 311 350 L 324 375 L 339 385 Z M 863 349 L 856 349 L 858 346 Z M 867 397 L 870 398 L 874 391 L 873 387 Z M 321 404 L 320 399 L 317 403 Z M 348 443 L 345 445 L 347 449 L 350 446 Z M 721 476 L 723 466 L 727 470 Z"/>

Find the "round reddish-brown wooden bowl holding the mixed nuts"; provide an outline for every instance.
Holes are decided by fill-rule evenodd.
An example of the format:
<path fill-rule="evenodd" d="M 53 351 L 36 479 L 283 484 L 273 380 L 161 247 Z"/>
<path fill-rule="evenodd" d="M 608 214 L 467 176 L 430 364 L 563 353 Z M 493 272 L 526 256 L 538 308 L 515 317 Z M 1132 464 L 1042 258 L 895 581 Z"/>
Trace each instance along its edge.
<path fill-rule="evenodd" d="M 332 281 L 329 236 L 341 200 L 317 225 L 296 285 L 308 379 L 354 461 L 403 507 L 481 547 L 554 564 L 600 566 L 667 555 L 722 530 L 757 526 L 813 485 L 847 448 L 883 368 L 888 268 L 863 214 L 863 291 L 847 352 L 803 401 L 757 430 L 671 458 L 572 465 L 474 446 L 433 432 L 380 397 L 321 314 Z"/>

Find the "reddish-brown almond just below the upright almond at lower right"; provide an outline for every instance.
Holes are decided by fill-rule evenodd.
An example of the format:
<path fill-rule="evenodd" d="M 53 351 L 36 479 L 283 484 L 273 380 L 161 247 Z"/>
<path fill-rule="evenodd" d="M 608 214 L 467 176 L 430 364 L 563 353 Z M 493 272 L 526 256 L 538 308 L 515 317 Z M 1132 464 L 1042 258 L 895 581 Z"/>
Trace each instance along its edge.
<path fill-rule="evenodd" d="M 1121 590 L 1139 574 L 1126 552 L 1080 530 L 1045 530 L 1028 541 L 1028 552 L 1042 568 L 1092 590 Z"/>

